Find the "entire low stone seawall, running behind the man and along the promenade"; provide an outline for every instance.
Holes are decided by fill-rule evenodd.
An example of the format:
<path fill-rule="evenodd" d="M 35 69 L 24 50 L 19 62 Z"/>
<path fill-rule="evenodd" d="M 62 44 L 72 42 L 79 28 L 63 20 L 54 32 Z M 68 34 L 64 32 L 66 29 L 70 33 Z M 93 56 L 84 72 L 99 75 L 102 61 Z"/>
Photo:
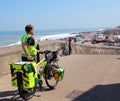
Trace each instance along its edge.
<path fill-rule="evenodd" d="M 56 50 L 61 46 L 62 42 L 46 41 L 40 42 L 41 50 Z M 72 54 L 84 55 L 120 55 L 120 48 L 117 47 L 100 47 L 100 46 L 87 46 L 77 43 L 72 44 Z M 13 46 L 0 48 L 0 77 L 8 74 L 10 69 L 8 64 L 10 62 L 21 61 L 21 47 Z"/>

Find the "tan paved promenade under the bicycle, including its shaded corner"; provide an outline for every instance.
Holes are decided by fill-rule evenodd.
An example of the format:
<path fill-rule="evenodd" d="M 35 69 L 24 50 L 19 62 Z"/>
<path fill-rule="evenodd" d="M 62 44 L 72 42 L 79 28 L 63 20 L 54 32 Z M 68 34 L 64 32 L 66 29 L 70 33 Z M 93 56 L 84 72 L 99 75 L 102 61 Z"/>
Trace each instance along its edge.
<path fill-rule="evenodd" d="M 72 55 L 59 64 L 65 68 L 64 80 L 30 101 L 120 101 L 120 56 Z M 15 90 L 10 75 L 0 78 L 0 101 L 9 101 Z M 16 97 L 13 101 L 21 101 Z"/>

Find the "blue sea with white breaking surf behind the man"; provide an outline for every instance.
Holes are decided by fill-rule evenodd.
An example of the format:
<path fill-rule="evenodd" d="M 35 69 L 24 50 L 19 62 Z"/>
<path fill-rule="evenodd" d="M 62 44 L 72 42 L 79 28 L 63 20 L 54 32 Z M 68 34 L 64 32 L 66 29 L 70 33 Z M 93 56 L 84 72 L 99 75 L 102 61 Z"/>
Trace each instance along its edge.
<path fill-rule="evenodd" d="M 34 32 L 35 40 L 56 40 L 73 36 L 73 33 L 85 31 L 95 31 L 95 28 L 84 29 L 53 29 L 53 30 L 36 30 Z M 21 37 L 25 31 L 0 31 L 0 47 L 13 46 L 21 43 Z"/>

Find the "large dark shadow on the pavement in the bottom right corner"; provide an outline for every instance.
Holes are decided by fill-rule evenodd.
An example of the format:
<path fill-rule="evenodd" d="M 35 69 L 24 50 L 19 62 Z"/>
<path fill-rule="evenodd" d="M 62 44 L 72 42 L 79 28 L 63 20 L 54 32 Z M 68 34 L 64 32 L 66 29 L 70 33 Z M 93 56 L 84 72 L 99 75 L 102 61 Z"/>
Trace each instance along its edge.
<path fill-rule="evenodd" d="M 72 101 L 120 101 L 120 84 L 97 85 Z"/>

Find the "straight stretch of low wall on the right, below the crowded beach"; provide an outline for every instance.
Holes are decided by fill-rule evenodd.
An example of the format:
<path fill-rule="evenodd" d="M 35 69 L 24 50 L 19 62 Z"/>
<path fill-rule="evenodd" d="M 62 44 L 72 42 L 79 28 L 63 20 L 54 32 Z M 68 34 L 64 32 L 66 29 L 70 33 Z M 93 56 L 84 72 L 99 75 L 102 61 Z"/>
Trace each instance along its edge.
<path fill-rule="evenodd" d="M 119 47 L 72 44 L 73 54 L 120 55 Z"/>

